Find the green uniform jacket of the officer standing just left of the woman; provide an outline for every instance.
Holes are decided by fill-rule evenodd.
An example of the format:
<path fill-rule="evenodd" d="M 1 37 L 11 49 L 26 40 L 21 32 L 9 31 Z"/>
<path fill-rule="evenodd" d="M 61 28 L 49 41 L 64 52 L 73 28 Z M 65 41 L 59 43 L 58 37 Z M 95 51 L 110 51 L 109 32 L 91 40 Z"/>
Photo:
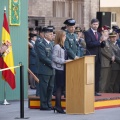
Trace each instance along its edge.
<path fill-rule="evenodd" d="M 52 44 L 48 44 L 43 39 L 35 45 L 38 56 L 38 74 L 54 75 L 54 69 L 52 68 Z"/>

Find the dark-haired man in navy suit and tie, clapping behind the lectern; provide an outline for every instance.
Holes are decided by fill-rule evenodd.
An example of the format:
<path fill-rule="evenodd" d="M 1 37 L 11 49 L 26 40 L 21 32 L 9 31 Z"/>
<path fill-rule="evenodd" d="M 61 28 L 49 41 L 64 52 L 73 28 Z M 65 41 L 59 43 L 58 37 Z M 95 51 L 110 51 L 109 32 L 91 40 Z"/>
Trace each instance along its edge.
<path fill-rule="evenodd" d="M 99 92 L 99 78 L 100 78 L 100 48 L 105 46 L 104 41 L 100 40 L 100 33 L 97 32 L 99 21 L 97 19 L 91 20 L 91 28 L 85 32 L 86 54 L 95 56 L 95 96 L 100 96 Z"/>

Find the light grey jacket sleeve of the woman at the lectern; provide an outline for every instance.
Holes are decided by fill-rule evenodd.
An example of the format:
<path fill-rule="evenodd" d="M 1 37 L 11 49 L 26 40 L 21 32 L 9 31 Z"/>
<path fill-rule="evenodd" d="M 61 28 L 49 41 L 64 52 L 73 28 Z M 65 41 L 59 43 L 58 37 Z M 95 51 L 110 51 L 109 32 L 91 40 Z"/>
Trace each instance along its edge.
<path fill-rule="evenodd" d="M 59 64 L 65 63 L 64 56 L 62 56 L 61 54 L 61 48 L 57 45 L 55 45 L 53 48 L 52 59 L 54 62 L 59 63 Z"/>

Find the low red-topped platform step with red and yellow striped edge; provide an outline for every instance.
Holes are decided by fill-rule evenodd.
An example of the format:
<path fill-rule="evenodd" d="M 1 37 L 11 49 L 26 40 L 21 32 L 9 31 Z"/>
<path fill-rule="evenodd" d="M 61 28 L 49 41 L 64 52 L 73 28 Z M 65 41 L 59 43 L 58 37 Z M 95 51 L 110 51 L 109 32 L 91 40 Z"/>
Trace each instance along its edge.
<path fill-rule="evenodd" d="M 66 101 L 62 96 L 61 105 L 65 109 Z M 55 106 L 55 97 L 52 97 L 51 101 L 52 106 Z M 30 109 L 39 109 L 40 108 L 40 98 L 35 95 L 28 96 L 28 107 Z M 114 108 L 120 107 L 120 94 L 119 93 L 101 93 L 101 96 L 95 96 L 94 102 L 95 109 L 105 109 L 105 108 Z"/>

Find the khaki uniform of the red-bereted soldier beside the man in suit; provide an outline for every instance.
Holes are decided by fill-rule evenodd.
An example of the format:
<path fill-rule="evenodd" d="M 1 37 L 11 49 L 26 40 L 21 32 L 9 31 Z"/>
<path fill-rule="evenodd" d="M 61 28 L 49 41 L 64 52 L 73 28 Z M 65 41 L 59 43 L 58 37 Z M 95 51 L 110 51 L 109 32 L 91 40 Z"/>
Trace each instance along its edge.
<path fill-rule="evenodd" d="M 115 56 L 110 41 L 105 41 L 106 46 L 101 48 L 101 76 L 100 76 L 100 92 L 106 92 L 108 89 L 108 81 L 111 75 L 111 59 Z"/>

